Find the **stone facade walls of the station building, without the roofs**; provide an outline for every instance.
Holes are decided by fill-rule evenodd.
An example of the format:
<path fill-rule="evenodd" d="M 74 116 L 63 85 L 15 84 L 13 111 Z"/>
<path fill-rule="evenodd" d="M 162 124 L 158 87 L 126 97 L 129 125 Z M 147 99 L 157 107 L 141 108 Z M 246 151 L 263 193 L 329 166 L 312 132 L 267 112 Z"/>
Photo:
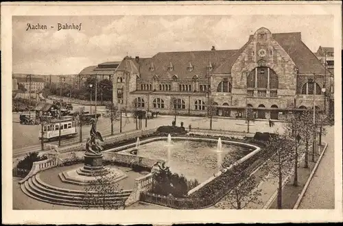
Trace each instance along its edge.
<path fill-rule="evenodd" d="M 123 105 L 127 110 L 133 110 L 133 101 L 137 97 L 141 97 L 145 101 L 142 110 L 158 111 L 165 114 L 174 114 L 171 102 L 171 97 L 182 98 L 185 101 L 185 109 L 178 110 L 178 114 L 191 114 L 191 115 L 206 115 L 207 110 L 196 110 L 195 101 L 202 100 L 207 104 L 207 94 L 204 90 L 200 90 L 200 85 L 210 85 L 211 94 L 210 98 L 217 103 L 220 110 L 217 112 L 219 115 L 235 117 L 237 114 L 244 114 L 246 105 L 252 105 L 257 114 L 263 113 L 263 118 L 270 118 L 270 108 L 280 108 L 277 112 L 277 118 L 287 118 L 287 110 L 305 106 L 306 108 L 313 108 L 314 95 L 302 95 L 301 90 L 313 75 L 305 75 L 298 73 L 298 67 L 287 54 L 285 49 L 279 45 L 276 40 L 272 38 L 272 33 L 265 28 L 258 29 L 253 36 L 250 36 L 248 43 L 244 49 L 239 50 L 239 55 L 235 60 L 230 71 L 224 74 L 212 74 L 210 79 L 206 79 L 205 75 L 198 77 L 178 79 L 178 77 L 171 77 L 170 79 L 158 79 L 156 77 L 145 77 L 141 79 L 139 74 L 130 73 L 130 79 L 123 86 L 124 101 Z M 300 38 L 300 37 L 298 37 Z M 250 73 L 255 73 L 255 68 L 265 67 L 268 68 L 268 86 L 267 88 L 258 88 L 257 82 L 255 87 L 247 88 L 247 77 Z M 277 88 L 270 88 L 271 80 L 270 73 L 274 72 L 277 77 Z M 122 72 L 117 72 L 118 76 Z M 211 73 L 210 73 L 211 74 Z M 138 75 L 138 79 L 137 79 Z M 257 78 L 256 75 L 255 78 Z M 324 86 L 324 79 L 326 79 L 327 92 L 333 92 L 333 77 L 324 75 L 316 75 L 316 83 L 320 89 Z M 118 84 L 115 84 L 117 79 L 113 79 L 113 101 L 118 102 L 116 97 Z M 229 92 L 218 92 L 217 87 L 222 82 L 230 84 Z M 210 84 L 209 84 L 210 83 Z M 140 84 L 152 84 L 152 88 L 140 91 Z M 170 85 L 170 90 L 163 93 L 159 85 Z M 180 92 L 179 85 L 191 85 L 191 90 L 188 92 Z M 156 93 L 151 93 L 155 91 Z M 171 94 L 170 92 L 174 92 Z M 150 94 L 148 94 L 150 92 Z M 153 100 L 155 98 L 163 99 L 165 108 L 153 108 Z M 324 109 L 324 93 L 315 95 L 315 105 L 321 110 Z M 222 107 L 225 105 L 225 107 Z M 230 108 L 231 107 L 231 108 Z M 228 110 L 230 108 L 230 110 Z M 266 108 L 266 110 L 263 110 Z M 327 108 L 327 107 L 326 107 Z M 224 114 L 225 112 L 225 114 Z M 274 114 L 275 117 L 275 114 Z"/>

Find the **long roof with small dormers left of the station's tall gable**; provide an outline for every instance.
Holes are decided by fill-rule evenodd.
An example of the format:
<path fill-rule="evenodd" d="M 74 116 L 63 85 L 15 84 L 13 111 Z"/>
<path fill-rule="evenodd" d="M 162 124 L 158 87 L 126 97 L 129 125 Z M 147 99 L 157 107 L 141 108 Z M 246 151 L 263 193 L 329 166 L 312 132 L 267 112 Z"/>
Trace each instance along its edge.
<path fill-rule="evenodd" d="M 145 78 L 153 75 L 164 79 L 171 79 L 174 75 L 180 79 L 191 79 L 194 75 L 201 78 L 208 72 L 209 62 L 216 68 L 236 52 L 237 50 L 160 52 L 152 58 L 139 60 L 140 73 L 141 77 Z M 167 70 L 170 63 L 173 65 L 172 71 Z M 152 64 L 154 71 L 149 71 Z M 190 66 L 193 66 L 193 70 L 188 71 L 187 68 Z"/>

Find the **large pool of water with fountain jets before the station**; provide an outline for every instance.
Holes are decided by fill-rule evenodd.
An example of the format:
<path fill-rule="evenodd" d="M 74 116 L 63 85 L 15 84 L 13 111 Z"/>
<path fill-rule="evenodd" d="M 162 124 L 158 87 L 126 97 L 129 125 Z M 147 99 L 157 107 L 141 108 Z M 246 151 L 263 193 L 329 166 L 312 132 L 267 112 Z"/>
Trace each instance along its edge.
<path fill-rule="evenodd" d="M 217 139 L 172 137 L 171 145 L 167 147 L 167 137 L 141 140 L 137 155 L 150 159 L 170 160 L 168 166 L 173 173 L 183 174 L 187 179 L 198 179 L 202 182 L 218 172 L 217 166 Z M 105 152 L 117 152 L 130 155 L 135 144 L 118 147 Z M 222 140 L 222 159 L 232 152 L 238 151 L 241 157 L 248 155 L 258 147 L 242 142 Z"/>

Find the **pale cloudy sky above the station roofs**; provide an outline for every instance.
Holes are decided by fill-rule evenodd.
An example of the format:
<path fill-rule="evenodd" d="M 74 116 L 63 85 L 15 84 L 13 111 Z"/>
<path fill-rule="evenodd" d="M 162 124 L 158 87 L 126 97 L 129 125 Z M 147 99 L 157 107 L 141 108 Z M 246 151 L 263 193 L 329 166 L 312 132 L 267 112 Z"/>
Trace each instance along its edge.
<path fill-rule="evenodd" d="M 47 30 L 27 29 L 47 25 Z M 57 24 L 80 25 L 57 30 Z M 54 28 L 51 28 L 53 26 Z M 272 33 L 301 32 L 316 52 L 333 47 L 333 16 L 13 16 L 13 73 L 78 74 L 86 66 L 150 58 L 163 51 L 239 49 L 260 27 Z"/>

